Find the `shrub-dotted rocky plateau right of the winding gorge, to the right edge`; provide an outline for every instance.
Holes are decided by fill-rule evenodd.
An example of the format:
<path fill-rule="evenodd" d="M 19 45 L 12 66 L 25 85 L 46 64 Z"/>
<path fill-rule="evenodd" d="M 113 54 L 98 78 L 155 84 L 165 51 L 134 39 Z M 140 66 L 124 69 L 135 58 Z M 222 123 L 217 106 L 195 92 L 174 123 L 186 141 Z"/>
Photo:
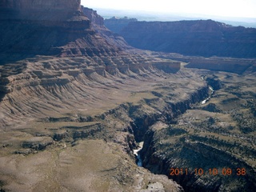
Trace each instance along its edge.
<path fill-rule="evenodd" d="M 213 94 L 176 121 L 150 127 L 141 154 L 143 165 L 154 173 L 171 174 L 186 191 L 254 191 L 254 74 L 196 71 L 204 78 L 213 75 Z M 177 172 L 171 173 L 172 168 Z M 232 170 L 228 176 L 226 169 Z"/>

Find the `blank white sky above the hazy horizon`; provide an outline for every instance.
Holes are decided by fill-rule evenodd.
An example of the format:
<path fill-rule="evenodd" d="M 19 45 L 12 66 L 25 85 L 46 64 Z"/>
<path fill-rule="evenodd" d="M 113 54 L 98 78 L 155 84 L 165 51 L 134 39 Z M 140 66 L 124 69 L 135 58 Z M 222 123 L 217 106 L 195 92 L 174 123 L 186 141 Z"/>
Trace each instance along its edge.
<path fill-rule="evenodd" d="M 94 10 L 145 10 L 169 14 L 256 18 L 256 0 L 82 0 L 81 4 Z"/>

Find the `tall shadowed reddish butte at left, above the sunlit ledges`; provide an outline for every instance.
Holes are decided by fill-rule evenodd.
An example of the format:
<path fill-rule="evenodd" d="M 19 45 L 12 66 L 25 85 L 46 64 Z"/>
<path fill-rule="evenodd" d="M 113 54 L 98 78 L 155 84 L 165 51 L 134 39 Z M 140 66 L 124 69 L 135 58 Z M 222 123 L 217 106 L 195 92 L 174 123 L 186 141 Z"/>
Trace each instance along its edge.
<path fill-rule="evenodd" d="M 1 64 L 36 54 L 100 56 L 120 50 L 96 33 L 80 1 L 4 1 L 0 9 Z"/>

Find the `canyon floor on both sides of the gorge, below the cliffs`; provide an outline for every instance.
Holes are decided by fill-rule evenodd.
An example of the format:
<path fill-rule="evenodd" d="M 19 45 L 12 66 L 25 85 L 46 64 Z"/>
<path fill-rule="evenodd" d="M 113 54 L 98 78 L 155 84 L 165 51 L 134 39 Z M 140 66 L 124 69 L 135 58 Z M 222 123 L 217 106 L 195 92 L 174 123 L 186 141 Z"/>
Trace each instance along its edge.
<path fill-rule="evenodd" d="M 130 52 L 105 58 L 129 60 L 123 73 L 106 72 L 94 66 L 103 58 L 90 57 L 38 56 L 1 66 L 9 91 L 0 111 L 2 191 L 254 190 L 254 65 L 234 74 Z M 133 154 L 142 141 L 146 169 Z M 191 174 L 170 175 L 171 168 Z M 198 175 L 196 168 L 218 174 Z M 235 174 L 238 168 L 246 174 Z"/>

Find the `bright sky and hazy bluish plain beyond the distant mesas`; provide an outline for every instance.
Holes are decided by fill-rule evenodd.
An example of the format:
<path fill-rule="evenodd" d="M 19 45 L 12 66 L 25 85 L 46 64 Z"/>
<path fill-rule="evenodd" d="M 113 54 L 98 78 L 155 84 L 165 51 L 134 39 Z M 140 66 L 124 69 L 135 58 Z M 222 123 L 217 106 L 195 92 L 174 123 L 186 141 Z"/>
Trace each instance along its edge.
<path fill-rule="evenodd" d="M 255 0 L 82 0 L 103 18 L 134 17 L 144 21 L 214 19 L 231 25 L 256 27 Z"/>

